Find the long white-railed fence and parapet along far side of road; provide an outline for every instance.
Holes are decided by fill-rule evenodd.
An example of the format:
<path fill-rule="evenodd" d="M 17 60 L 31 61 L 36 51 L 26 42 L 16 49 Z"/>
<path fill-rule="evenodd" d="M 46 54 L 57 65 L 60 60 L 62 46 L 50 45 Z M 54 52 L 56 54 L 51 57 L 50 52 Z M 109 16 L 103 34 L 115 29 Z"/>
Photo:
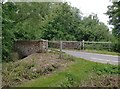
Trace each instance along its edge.
<path fill-rule="evenodd" d="M 62 43 L 62 44 L 61 44 Z M 51 45 L 50 45 L 51 44 Z M 111 42 L 95 42 L 95 41 L 49 41 L 49 46 L 53 48 L 63 49 L 107 49 L 110 51 Z"/>

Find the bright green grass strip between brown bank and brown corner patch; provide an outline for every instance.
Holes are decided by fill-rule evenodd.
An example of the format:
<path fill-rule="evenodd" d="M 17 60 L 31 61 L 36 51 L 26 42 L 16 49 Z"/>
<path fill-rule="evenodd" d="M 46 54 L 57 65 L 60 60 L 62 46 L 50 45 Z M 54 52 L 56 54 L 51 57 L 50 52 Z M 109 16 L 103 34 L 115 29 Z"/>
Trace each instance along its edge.
<path fill-rule="evenodd" d="M 89 79 L 94 73 L 101 75 L 118 75 L 120 67 L 110 64 L 101 64 L 74 57 L 74 63 L 64 70 L 55 71 L 48 76 L 26 82 L 19 87 L 80 87 L 83 80 Z M 104 86 L 104 85 L 103 85 Z"/>

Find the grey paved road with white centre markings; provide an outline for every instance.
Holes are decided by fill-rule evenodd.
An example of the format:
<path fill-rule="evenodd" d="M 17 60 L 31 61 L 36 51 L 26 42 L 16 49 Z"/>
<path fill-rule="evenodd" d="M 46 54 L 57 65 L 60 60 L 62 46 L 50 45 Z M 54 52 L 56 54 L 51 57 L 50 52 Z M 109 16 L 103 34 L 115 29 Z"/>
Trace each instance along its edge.
<path fill-rule="evenodd" d="M 115 64 L 115 65 L 119 64 L 118 59 L 120 58 L 120 56 L 79 52 L 79 51 L 70 51 L 70 50 L 63 50 L 63 52 L 70 54 L 72 56 L 75 56 L 75 57 L 89 60 L 89 61 L 100 62 L 100 63 L 109 63 L 109 64 Z"/>

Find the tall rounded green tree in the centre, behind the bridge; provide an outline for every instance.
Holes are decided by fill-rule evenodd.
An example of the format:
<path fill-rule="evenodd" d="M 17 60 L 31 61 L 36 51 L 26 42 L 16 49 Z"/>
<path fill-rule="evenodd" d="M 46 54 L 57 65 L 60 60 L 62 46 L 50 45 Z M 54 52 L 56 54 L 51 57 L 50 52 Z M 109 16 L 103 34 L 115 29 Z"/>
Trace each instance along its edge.
<path fill-rule="evenodd" d="M 43 38 L 49 40 L 76 40 L 75 34 L 81 18 L 78 9 L 67 3 L 60 3 L 53 13 L 55 17 L 46 26 Z"/>

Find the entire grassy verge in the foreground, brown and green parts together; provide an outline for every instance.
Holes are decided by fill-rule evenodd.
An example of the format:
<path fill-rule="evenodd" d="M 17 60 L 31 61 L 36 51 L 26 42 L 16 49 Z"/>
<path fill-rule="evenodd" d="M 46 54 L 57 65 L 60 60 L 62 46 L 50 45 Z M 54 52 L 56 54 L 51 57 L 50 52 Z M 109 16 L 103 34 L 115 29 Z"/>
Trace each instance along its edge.
<path fill-rule="evenodd" d="M 3 86 L 14 87 L 118 87 L 119 67 L 86 61 L 58 52 L 35 53 L 3 64 Z"/>

